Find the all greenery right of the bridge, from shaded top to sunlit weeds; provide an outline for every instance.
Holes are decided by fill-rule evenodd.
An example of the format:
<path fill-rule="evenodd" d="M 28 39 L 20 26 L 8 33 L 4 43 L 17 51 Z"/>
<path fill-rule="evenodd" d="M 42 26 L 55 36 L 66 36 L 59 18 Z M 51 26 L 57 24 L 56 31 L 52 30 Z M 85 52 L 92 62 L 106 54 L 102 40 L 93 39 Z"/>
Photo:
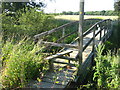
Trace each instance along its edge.
<path fill-rule="evenodd" d="M 119 21 L 113 22 L 112 36 L 104 45 L 96 48 L 95 67 L 93 75 L 89 77 L 88 83 L 82 89 L 107 89 L 119 90 L 120 88 L 120 27 Z M 92 78 L 92 79 L 91 79 Z"/>

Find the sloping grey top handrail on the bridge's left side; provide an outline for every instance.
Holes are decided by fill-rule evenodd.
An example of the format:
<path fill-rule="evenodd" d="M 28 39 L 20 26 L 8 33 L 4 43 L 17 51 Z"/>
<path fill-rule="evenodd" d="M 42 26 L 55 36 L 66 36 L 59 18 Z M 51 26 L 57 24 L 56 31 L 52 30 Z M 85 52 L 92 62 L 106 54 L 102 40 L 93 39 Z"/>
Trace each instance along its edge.
<path fill-rule="evenodd" d="M 52 29 L 52 30 L 50 30 L 50 31 L 46 31 L 46 32 L 37 34 L 37 35 L 34 36 L 34 38 L 35 38 L 35 39 L 42 38 L 42 37 L 44 37 L 44 36 L 46 36 L 46 35 L 49 35 L 49 34 L 51 34 L 51 33 L 53 33 L 53 32 L 58 31 L 58 30 L 62 30 L 64 27 L 73 25 L 73 24 L 75 24 L 75 23 L 78 23 L 78 21 L 70 22 L 70 23 L 64 24 L 64 25 L 62 25 L 62 26 L 60 26 L 60 27 L 57 27 L 57 28 L 55 28 L 55 29 Z"/>

